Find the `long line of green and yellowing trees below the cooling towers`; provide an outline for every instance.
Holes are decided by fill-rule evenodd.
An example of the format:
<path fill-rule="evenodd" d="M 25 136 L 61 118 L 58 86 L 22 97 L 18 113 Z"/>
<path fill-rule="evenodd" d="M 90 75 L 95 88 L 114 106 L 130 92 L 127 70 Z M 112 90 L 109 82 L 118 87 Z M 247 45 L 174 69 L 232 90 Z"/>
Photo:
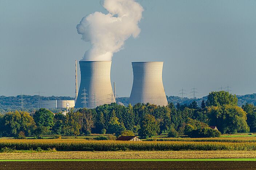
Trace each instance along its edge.
<path fill-rule="evenodd" d="M 39 109 L 30 115 L 25 111 L 7 112 L 0 117 L 0 135 L 19 137 L 43 135 L 90 135 L 91 133 L 133 135 L 142 138 L 168 133 L 171 137 L 216 137 L 219 132 L 209 128 L 216 126 L 221 133 L 256 132 L 256 107 L 237 106 L 236 95 L 228 92 L 211 92 L 207 101 L 198 106 L 168 103 L 157 106 L 137 103 L 128 107 L 116 103 L 95 109 L 71 110 L 67 115 L 53 114 Z M 20 134 L 22 133 L 22 134 Z"/>

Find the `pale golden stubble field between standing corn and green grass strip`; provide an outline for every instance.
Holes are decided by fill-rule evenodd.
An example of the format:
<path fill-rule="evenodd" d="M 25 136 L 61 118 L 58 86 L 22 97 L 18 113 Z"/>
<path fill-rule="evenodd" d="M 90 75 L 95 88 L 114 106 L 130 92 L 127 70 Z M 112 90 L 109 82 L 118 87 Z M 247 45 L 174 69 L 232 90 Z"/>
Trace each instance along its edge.
<path fill-rule="evenodd" d="M 256 151 L 113 151 L 0 153 L 0 160 L 256 158 Z"/>

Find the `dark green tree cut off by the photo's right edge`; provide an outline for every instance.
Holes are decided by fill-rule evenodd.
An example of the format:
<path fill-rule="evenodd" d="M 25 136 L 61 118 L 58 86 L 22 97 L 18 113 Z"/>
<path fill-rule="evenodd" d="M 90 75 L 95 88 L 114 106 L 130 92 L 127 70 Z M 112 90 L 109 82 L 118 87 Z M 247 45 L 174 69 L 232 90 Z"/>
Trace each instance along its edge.
<path fill-rule="evenodd" d="M 242 108 L 247 113 L 247 124 L 250 127 L 250 131 L 256 132 L 256 107 L 246 103 Z"/>

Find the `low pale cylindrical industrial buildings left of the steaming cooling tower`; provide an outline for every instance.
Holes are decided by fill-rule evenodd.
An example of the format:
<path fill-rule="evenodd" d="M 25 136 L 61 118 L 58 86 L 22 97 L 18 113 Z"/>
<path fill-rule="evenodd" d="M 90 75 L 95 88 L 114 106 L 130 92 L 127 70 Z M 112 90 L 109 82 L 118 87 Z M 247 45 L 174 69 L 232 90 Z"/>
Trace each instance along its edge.
<path fill-rule="evenodd" d="M 41 108 L 53 109 L 53 108 L 67 108 L 75 107 L 75 100 L 47 100 L 41 101 Z"/>

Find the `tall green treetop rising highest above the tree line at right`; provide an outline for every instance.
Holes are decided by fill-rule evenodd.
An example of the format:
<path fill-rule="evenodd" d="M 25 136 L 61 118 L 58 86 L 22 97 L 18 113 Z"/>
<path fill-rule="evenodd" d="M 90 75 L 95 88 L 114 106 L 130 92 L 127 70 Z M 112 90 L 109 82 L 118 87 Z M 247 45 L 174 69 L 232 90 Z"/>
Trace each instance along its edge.
<path fill-rule="evenodd" d="M 223 106 L 223 105 L 233 105 L 237 106 L 236 95 L 229 94 L 225 91 L 211 92 L 207 97 L 207 106 Z"/>

